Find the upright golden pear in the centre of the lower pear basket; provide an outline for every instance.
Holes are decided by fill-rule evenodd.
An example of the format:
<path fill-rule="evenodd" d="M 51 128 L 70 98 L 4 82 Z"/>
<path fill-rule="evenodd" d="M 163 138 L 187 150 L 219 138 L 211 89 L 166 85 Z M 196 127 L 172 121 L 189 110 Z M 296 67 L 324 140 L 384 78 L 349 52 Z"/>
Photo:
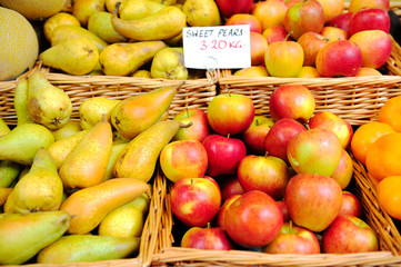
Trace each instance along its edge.
<path fill-rule="evenodd" d="M 62 161 L 59 174 L 64 190 L 87 188 L 104 180 L 112 141 L 111 125 L 104 115 Z"/>

